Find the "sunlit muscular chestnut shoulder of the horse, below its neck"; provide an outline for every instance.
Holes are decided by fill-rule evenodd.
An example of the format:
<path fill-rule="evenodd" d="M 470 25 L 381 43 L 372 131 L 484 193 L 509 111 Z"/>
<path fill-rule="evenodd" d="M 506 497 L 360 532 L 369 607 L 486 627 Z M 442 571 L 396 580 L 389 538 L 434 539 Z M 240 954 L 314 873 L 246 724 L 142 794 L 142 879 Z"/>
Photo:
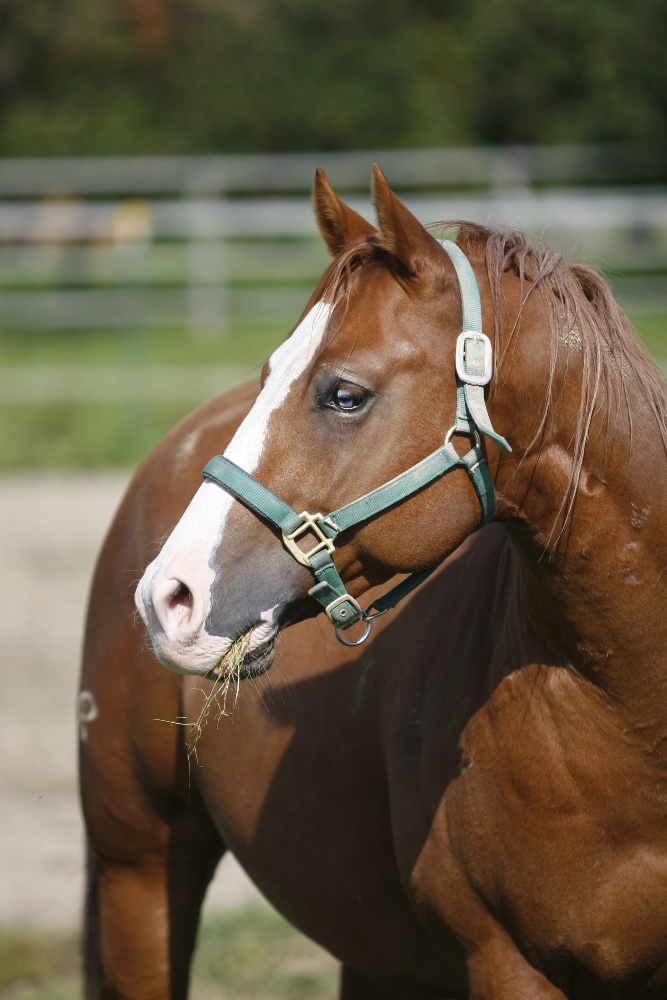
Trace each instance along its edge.
<path fill-rule="evenodd" d="M 428 919 L 473 939 L 509 920 L 503 948 L 518 944 L 552 982 L 659 969 L 665 761 L 606 695 L 546 656 L 524 663 L 470 714 L 457 750 L 413 867 Z"/>

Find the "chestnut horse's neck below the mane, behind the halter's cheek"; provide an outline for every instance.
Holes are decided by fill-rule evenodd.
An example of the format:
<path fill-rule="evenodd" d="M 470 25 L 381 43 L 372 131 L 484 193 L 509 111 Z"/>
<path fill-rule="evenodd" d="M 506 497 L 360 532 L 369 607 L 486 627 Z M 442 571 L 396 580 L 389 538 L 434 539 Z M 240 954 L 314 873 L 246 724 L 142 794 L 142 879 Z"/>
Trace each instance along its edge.
<path fill-rule="evenodd" d="M 527 445 L 498 475 L 499 514 L 520 559 L 532 630 L 642 722 L 667 725 L 667 458 L 632 381 L 627 408 L 591 424 L 570 516 L 572 420 L 539 456 Z M 519 448 L 519 454 L 521 454 Z"/>

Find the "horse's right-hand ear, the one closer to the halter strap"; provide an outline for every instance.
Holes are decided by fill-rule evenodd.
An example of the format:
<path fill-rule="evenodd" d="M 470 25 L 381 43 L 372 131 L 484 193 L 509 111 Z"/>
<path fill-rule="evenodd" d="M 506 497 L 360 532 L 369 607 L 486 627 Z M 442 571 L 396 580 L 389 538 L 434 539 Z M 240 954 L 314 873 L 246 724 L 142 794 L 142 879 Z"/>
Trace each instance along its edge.
<path fill-rule="evenodd" d="M 441 262 L 443 251 L 437 240 L 399 201 L 377 163 L 373 164 L 373 201 L 387 250 L 411 274 L 419 274 L 429 264 Z"/>

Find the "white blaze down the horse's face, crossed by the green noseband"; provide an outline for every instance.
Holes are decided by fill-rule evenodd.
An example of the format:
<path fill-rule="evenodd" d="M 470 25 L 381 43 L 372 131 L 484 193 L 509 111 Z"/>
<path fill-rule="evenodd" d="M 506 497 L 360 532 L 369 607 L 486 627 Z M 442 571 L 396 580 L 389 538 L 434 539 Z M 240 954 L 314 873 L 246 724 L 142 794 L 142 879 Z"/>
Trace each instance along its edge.
<path fill-rule="evenodd" d="M 252 473 L 257 468 L 271 415 L 285 401 L 292 384 L 303 374 L 319 349 L 330 312 L 330 304 L 318 302 L 292 336 L 271 355 L 270 373 L 264 388 L 225 451 L 225 456 L 246 472 Z M 137 606 L 142 611 L 143 593 L 152 594 L 155 600 L 168 581 L 176 579 L 185 583 L 194 600 L 193 623 L 201 626 L 199 635 L 196 638 L 193 635 L 192 640 L 196 645 L 202 643 L 206 646 L 215 640 L 216 648 L 222 643 L 218 655 L 222 655 L 229 640 L 215 636 L 207 642 L 203 623 L 210 610 L 210 588 L 215 579 L 215 570 L 209 565 L 211 553 L 220 545 L 233 502 L 229 493 L 206 480 L 195 493 L 157 559 L 146 569 L 136 592 Z M 262 633 L 268 631 L 269 617 L 273 619 L 273 609 L 262 615 Z M 259 645 L 259 641 L 253 634 L 251 647 L 255 645 Z M 194 649 L 192 653 L 196 657 Z M 207 651 L 206 659 L 210 655 Z"/>

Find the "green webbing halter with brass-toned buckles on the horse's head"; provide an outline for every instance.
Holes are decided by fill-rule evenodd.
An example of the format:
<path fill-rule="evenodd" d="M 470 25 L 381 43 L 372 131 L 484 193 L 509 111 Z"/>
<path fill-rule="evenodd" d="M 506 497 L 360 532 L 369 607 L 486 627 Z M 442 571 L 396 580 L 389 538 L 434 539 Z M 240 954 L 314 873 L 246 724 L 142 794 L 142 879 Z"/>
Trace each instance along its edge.
<path fill-rule="evenodd" d="M 505 438 L 491 426 L 484 402 L 484 386 L 493 373 L 493 348 L 489 338 L 482 333 L 482 304 L 475 273 L 470 261 L 455 243 L 450 240 L 438 242 L 454 265 L 463 304 L 463 331 L 456 341 L 456 420 L 440 448 L 383 486 L 327 515 L 309 514 L 307 511 L 297 514 L 289 504 L 224 455 L 212 458 L 203 471 L 206 479 L 218 483 L 259 517 L 280 529 L 287 550 L 314 574 L 317 582 L 308 593 L 321 604 L 338 639 L 346 646 L 358 646 L 364 642 L 370 634 L 373 618 L 395 608 L 436 567 L 413 573 L 364 610 L 347 593 L 334 565 L 332 553 L 337 536 L 362 521 L 376 517 L 457 466 L 466 470 L 477 493 L 482 508 L 477 527 L 481 528 L 496 512 L 496 491 L 481 450 L 480 434 L 491 438 L 505 451 L 512 450 Z M 474 447 L 465 455 L 457 455 L 451 444 L 454 434 L 474 436 Z M 296 544 L 306 532 L 317 539 L 309 552 L 304 552 Z M 366 631 L 360 639 L 348 641 L 341 633 L 359 621 L 366 623 Z"/>

